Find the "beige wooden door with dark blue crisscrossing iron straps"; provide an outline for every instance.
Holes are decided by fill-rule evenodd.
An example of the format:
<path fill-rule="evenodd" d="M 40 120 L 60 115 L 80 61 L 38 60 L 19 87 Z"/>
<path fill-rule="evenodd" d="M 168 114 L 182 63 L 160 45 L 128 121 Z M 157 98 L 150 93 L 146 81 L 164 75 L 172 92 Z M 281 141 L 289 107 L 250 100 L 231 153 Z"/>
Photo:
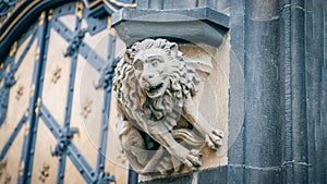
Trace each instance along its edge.
<path fill-rule="evenodd" d="M 128 182 L 109 120 L 123 45 L 96 3 L 44 11 L 0 62 L 0 183 Z"/>

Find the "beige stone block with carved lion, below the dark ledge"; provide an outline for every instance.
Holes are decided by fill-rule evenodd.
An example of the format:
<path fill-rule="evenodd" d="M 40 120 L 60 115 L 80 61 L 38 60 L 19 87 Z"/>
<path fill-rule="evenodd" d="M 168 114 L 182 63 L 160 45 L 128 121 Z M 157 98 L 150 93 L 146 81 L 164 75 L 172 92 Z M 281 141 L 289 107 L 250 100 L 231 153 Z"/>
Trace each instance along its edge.
<path fill-rule="evenodd" d="M 145 39 L 126 50 L 113 79 L 119 116 L 123 120 L 118 121 L 118 131 L 130 164 L 142 174 L 141 181 L 190 172 L 187 168 L 203 170 L 227 164 L 228 142 L 223 137 L 228 137 L 229 48 L 228 34 L 219 49 L 192 44 L 177 45 L 166 39 Z M 166 53 L 168 51 L 169 54 Z M 165 74 L 168 77 L 164 77 Z M 186 84 L 183 82 L 185 79 Z M 184 85 L 191 87 L 182 90 L 182 96 L 178 97 L 177 85 L 181 85 L 181 89 Z M 170 96 L 167 96 L 167 90 Z M 131 97 L 126 94 L 135 95 Z M 158 99 L 164 99 L 164 111 L 157 107 L 160 105 Z M 167 99 L 172 100 L 172 106 L 166 103 Z M 171 108 L 173 112 L 170 112 Z M 181 114 L 175 114 L 179 112 Z M 182 125 L 184 123 L 193 126 L 185 127 Z M 153 140 L 141 136 L 137 128 L 148 134 L 160 147 L 147 147 Z M 183 132 L 179 133 L 178 130 L 187 134 L 181 134 Z M 171 159 L 170 155 L 162 156 L 162 148 L 181 162 Z M 201 150 L 203 157 L 191 149 Z M 198 158 L 202 158 L 201 162 Z M 181 163 L 186 164 L 182 168 Z M 172 172 L 165 173 L 170 170 Z"/>

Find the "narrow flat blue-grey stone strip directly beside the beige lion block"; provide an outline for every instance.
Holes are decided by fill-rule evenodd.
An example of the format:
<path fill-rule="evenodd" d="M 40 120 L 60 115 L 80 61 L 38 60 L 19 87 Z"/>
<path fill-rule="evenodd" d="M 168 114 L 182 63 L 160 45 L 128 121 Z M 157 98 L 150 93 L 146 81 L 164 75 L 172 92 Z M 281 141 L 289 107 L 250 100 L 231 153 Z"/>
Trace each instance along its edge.
<path fill-rule="evenodd" d="M 229 75 L 229 149 L 228 162 L 243 164 L 244 137 L 244 0 L 232 0 L 234 13 L 230 17 L 231 50 Z M 234 176 L 232 173 L 231 175 Z"/>

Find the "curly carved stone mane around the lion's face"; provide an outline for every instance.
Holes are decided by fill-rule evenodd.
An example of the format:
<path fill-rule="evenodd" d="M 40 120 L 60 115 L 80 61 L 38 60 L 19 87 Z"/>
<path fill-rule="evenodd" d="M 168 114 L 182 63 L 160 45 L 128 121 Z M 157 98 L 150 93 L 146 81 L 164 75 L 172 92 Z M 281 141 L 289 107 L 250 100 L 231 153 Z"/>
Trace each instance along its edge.
<path fill-rule="evenodd" d="M 165 94 L 157 99 L 149 99 L 142 90 L 133 66 L 137 52 L 153 48 L 162 49 L 170 60 L 168 62 L 170 84 Z M 125 51 L 125 57 L 114 71 L 113 90 L 117 93 L 119 110 L 123 113 L 123 118 L 131 121 L 134 119 L 133 114 L 137 112 L 157 121 L 169 116 L 174 109 L 182 108 L 184 98 L 191 98 L 196 94 L 198 83 L 197 73 L 186 65 L 177 44 L 167 39 L 145 39 L 135 42 Z"/>

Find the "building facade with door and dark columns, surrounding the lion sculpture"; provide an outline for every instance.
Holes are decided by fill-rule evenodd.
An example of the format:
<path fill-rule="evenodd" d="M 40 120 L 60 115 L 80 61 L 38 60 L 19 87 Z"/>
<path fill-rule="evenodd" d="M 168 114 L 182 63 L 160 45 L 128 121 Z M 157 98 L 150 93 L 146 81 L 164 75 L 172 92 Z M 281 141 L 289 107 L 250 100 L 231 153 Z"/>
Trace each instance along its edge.
<path fill-rule="evenodd" d="M 197 62 L 223 122 L 197 171 L 144 177 L 120 145 L 113 73 L 146 38 Z M 325 0 L 3 0 L 0 48 L 0 183 L 327 182 Z"/>

